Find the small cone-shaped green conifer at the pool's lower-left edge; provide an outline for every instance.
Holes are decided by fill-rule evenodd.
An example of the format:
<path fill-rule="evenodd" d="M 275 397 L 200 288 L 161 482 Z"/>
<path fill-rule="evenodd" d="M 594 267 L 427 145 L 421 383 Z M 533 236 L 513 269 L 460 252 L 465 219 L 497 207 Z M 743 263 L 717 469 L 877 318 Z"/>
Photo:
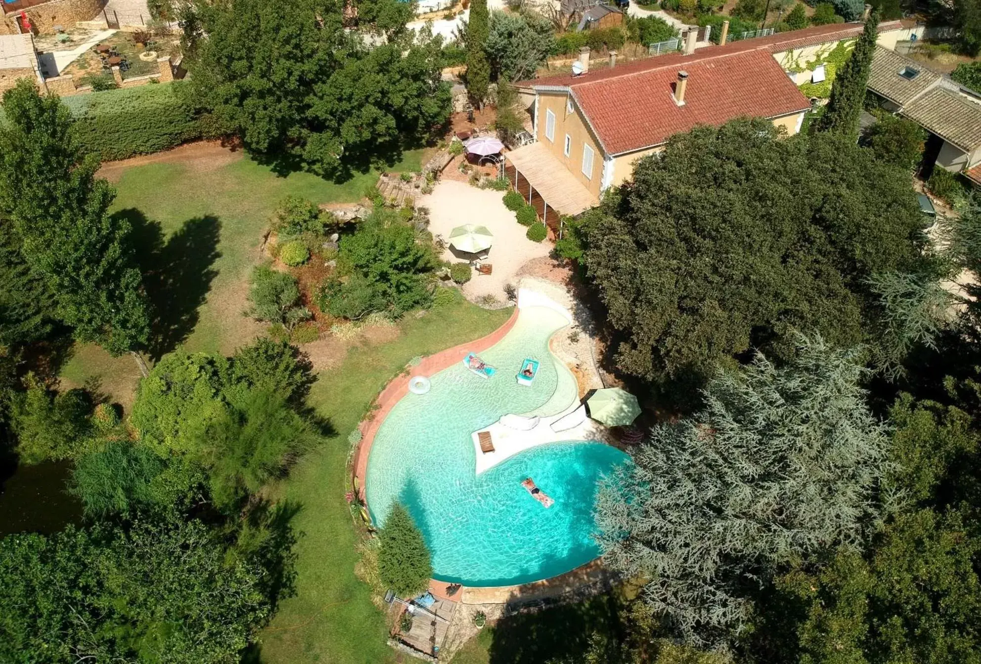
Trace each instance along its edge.
<path fill-rule="evenodd" d="M 429 587 L 433 576 L 429 549 L 400 503 L 391 506 L 379 541 L 379 575 L 387 587 L 399 597 L 412 597 Z"/>

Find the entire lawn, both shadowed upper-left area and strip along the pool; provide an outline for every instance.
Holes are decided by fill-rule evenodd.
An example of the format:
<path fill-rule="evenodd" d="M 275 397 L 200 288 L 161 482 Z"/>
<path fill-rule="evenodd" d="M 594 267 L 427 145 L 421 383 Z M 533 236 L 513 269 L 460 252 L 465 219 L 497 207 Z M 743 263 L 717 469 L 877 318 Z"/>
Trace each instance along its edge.
<path fill-rule="evenodd" d="M 279 201 L 287 194 L 318 203 L 355 201 L 377 178 L 366 174 L 340 184 L 307 174 L 282 178 L 240 155 L 215 149 L 207 154 L 207 159 L 151 159 L 117 169 L 114 176 L 119 191 L 114 210 L 138 231 L 144 265 L 151 266 L 148 289 L 162 312 L 155 354 L 181 342 L 191 350 L 230 354 L 250 342 L 262 327 L 242 316 L 247 278 L 260 260 L 262 237 Z M 417 168 L 420 155 L 407 152 L 395 169 Z M 348 435 L 410 359 L 483 336 L 509 313 L 485 311 L 460 297 L 438 310 L 409 315 L 381 340 L 353 342 L 342 363 L 318 376 L 310 405 L 335 433 L 272 487 L 275 496 L 299 507 L 297 592 L 283 602 L 249 661 L 396 661 L 386 645 L 384 616 L 354 576 L 355 531 L 344 501 Z M 129 357 L 112 358 L 81 345 L 62 378 L 63 386 L 88 384 L 129 405 L 139 374 Z"/>

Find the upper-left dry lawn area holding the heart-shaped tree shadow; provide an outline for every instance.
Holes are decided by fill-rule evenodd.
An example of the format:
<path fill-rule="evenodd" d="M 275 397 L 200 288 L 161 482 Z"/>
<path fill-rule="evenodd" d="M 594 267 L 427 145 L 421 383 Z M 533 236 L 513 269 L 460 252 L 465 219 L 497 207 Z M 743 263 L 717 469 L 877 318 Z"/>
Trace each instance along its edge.
<path fill-rule="evenodd" d="M 279 201 L 293 194 L 318 203 L 353 202 L 377 179 L 364 174 L 335 184 L 306 173 L 282 178 L 240 154 L 219 157 L 134 166 L 116 182 L 114 211 L 129 218 L 141 250 L 153 254 L 147 262 L 159 268 L 151 288 L 161 313 L 155 355 L 181 342 L 190 350 L 227 354 L 248 343 L 261 332 L 242 316 L 248 275 L 260 260 Z M 99 383 L 128 406 L 135 383 L 119 379 L 135 379 L 134 370 L 129 357 L 79 346 L 62 378 L 69 386 Z"/>

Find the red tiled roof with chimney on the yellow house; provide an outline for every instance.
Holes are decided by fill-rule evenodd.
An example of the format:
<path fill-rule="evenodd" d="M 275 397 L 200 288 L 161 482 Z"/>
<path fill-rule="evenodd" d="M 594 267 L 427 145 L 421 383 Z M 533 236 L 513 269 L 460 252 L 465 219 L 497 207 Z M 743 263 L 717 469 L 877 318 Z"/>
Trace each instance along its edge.
<path fill-rule="evenodd" d="M 697 125 L 721 125 L 741 116 L 776 118 L 810 108 L 765 50 L 715 52 L 702 49 L 691 56 L 645 60 L 644 69 L 628 65 L 603 76 L 531 83 L 537 89 L 571 90 L 608 155 L 659 145 Z M 680 71 L 689 75 L 683 106 L 673 97 Z"/>

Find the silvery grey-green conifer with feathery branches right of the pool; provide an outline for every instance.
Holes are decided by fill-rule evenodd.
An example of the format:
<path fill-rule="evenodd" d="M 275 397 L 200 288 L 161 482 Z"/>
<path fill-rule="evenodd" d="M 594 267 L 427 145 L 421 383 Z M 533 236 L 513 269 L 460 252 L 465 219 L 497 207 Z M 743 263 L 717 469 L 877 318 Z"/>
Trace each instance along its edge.
<path fill-rule="evenodd" d="M 749 619 L 747 588 L 828 547 L 860 547 L 878 510 L 887 436 L 859 387 L 860 353 L 799 338 L 777 368 L 721 372 L 705 409 L 654 427 L 600 488 L 604 560 L 696 644 Z"/>

